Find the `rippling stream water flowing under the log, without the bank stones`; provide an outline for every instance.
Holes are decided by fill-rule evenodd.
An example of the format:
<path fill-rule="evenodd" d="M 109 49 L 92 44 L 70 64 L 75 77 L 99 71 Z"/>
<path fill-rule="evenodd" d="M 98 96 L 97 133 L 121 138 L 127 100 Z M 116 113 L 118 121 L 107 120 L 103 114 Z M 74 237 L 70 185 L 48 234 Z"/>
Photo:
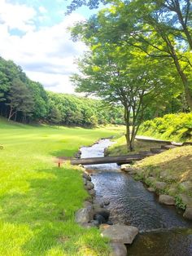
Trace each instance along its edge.
<path fill-rule="evenodd" d="M 81 157 L 102 157 L 111 145 L 101 139 L 91 147 L 81 148 Z M 139 235 L 129 245 L 134 256 L 192 256 L 192 222 L 182 217 L 183 211 L 161 205 L 155 193 L 120 171 L 116 164 L 85 166 L 92 175 L 98 201 L 109 200 L 112 223 L 132 225 Z"/>

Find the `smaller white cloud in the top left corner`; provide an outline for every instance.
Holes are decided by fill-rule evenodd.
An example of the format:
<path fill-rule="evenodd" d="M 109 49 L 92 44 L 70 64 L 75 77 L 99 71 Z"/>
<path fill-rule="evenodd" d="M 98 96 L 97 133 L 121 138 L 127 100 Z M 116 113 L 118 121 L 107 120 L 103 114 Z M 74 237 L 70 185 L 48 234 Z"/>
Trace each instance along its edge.
<path fill-rule="evenodd" d="M 8 29 L 20 29 L 24 32 L 35 29 L 35 15 L 36 11 L 32 7 L 1 0 L 0 23 L 6 25 Z"/>

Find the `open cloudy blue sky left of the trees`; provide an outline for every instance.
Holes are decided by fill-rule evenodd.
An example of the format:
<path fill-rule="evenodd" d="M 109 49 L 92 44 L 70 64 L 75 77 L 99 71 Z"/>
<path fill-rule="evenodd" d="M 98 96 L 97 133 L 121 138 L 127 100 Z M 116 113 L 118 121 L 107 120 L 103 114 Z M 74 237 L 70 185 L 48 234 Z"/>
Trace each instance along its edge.
<path fill-rule="evenodd" d="M 13 60 L 46 90 L 74 93 L 76 58 L 86 50 L 68 27 L 94 14 L 86 7 L 64 15 L 68 0 L 0 0 L 0 56 Z"/>

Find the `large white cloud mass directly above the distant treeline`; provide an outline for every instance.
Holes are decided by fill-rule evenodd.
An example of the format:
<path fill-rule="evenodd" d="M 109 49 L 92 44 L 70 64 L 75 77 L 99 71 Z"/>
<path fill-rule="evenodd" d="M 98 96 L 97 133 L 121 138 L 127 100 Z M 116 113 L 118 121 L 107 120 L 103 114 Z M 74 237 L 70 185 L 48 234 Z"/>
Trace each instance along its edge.
<path fill-rule="evenodd" d="M 12 10 L 15 8 L 15 5 L 5 4 L 5 1 L 3 3 L 4 15 L 8 7 Z M 19 5 L 17 7 L 19 8 Z M 24 5 L 20 7 L 22 10 L 30 9 Z M 11 15 L 9 11 L 7 13 Z M 83 20 L 83 17 L 72 14 L 65 17 L 59 24 L 34 30 L 28 27 L 33 14 L 32 10 L 28 11 L 28 19 L 26 15 L 23 20 L 20 20 L 23 30 L 27 30 L 23 36 L 13 36 L 9 33 L 11 27 L 9 19 L 4 24 L 0 24 L 0 55 L 6 60 L 15 61 L 29 78 L 41 82 L 46 89 L 72 93 L 73 87 L 69 76 L 77 71 L 73 62 L 85 50 L 85 45 L 81 42 L 72 42 L 67 28 L 77 20 Z M 18 21 L 18 26 L 12 25 L 12 28 L 20 29 L 20 23 Z"/>

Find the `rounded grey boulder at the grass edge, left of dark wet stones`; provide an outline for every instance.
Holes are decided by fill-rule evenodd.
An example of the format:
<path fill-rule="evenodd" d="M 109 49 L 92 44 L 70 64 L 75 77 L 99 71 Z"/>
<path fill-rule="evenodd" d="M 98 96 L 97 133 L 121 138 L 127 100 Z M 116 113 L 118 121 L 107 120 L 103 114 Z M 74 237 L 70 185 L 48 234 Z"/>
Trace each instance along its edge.
<path fill-rule="evenodd" d="M 85 208 L 81 208 L 80 210 L 77 210 L 75 215 L 75 221 L 76 223 L 82 224 L 82 223 L 89 223 L 94 218 L 94 210 L 92 206 L 87 206 Z"/>

